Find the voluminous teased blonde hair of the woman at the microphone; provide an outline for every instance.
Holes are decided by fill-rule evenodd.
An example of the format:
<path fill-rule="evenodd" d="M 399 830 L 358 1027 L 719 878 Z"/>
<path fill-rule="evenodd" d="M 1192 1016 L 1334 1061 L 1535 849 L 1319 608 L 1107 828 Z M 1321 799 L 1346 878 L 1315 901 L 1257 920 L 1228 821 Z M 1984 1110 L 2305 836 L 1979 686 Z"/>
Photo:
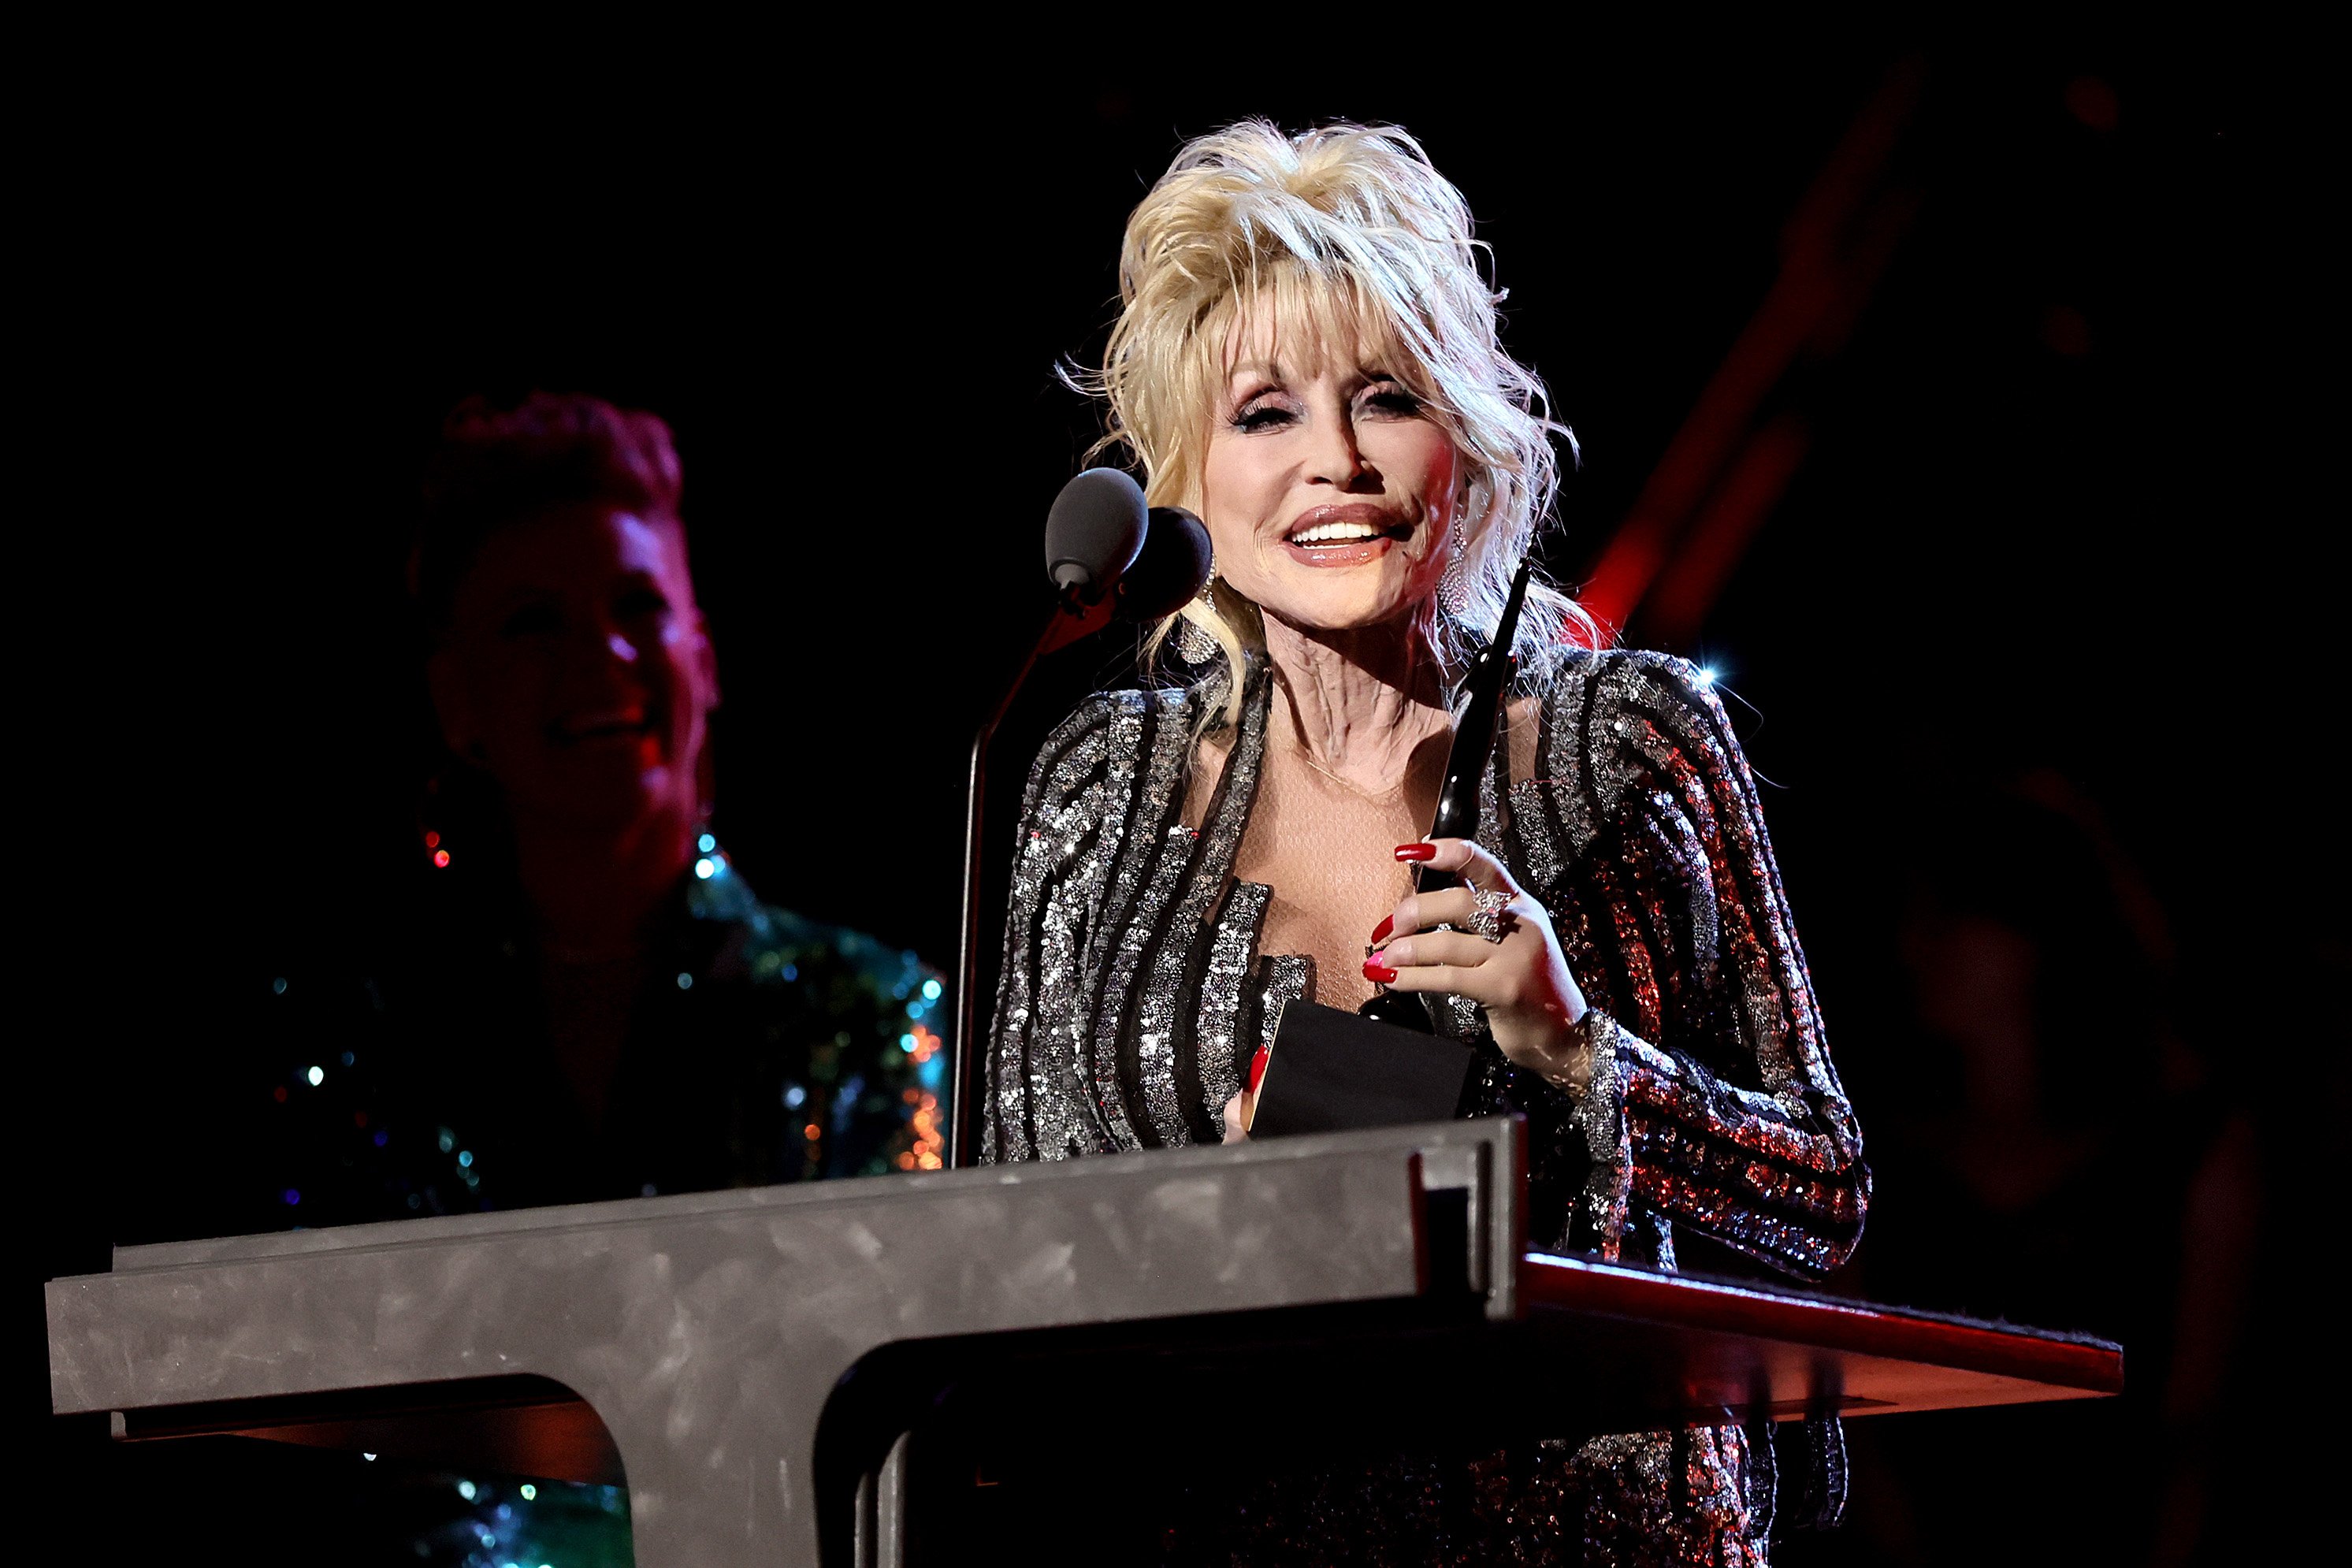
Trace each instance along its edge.
<path fill-rule="evenodd" d="M 1472 637 L 1494 635 L 1519 567 L 1552 505 L 1552 437 L 1576 437 L 1545 409 L 1543 383 L 1503 353 L 1496 306 L 1479 273 L 1470 205 L 1428 153 L 1395 125 L 1324 125 L 1284 136 L 1242 120 L 1200 136 L 1127 219 L 1120 247 L 1120 320 L 1103 369 L 1080 378 L 1108 402 L 1096 451 L 1127 447 L 1152 505 L 1200 508 L 1211 409 L 1242 310 L 1263 301 L 1282 327 L 1298 322 L 1322 350 L 1367 334 L 1395 355 L 1392 374 L 1423 402 L 1468 468 L 1458 567 L 1418 611 L 1416 630 L 1439 668 L 1458 672 Z M 1449 607 L 1442 599 L 1454 597 Z M 1211 599 L 1169 616 L 1145 661 L 1190 621 L 1216 639 L 1223 722 L 1240 717 L 1251 651 L 1263 649 L 1254 604 L 1218 581 Z M 1569 644 L 1597 646 L 1592 618 L 1545 583 L 1531 583 L 1517 644 L 1534 670 Z"/>

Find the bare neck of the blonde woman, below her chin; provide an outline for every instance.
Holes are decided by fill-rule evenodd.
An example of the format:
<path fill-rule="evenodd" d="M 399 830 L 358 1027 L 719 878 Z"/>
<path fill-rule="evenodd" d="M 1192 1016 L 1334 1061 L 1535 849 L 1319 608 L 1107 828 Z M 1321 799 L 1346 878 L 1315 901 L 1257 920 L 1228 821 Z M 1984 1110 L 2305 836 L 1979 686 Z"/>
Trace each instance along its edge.
<path fill-rule="evenodd" d="M 1265 616 L 1265 656 L 1298 750 L 1357 790 L 1395 788 L 1451 726 L 1437 663 L 1409 628 L 1327 632 Z"/>

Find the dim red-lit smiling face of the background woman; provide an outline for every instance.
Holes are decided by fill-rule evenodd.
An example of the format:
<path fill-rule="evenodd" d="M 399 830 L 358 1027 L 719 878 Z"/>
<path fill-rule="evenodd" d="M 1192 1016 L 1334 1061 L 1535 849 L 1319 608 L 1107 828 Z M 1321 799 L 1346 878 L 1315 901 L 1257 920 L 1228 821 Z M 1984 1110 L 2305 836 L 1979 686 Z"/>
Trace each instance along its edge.
<path fill-rule="evenodd" d="M 586 503 L 492 534 L 430 675 L 449 748 L 517 825 L 691 825 L 706 804 L 717 668 L 675 520 Z"/>

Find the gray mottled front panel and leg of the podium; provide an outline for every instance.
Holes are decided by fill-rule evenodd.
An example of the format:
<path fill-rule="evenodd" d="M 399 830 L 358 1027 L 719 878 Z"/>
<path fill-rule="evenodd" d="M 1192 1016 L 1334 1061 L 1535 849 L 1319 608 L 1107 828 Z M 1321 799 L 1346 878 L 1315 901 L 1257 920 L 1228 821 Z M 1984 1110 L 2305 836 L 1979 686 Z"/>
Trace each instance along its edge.
<path fill-rule="evenodd" d="M 640 1568 L 816 1563 L 818 1422 L 877 1347 L 1432 1284 L 1508 1316 L 1515 1140 L 1456 1121 L 122 1248 L 47 1288 L 52 1399 L 132 1413 L 548 1378 L 612 1434 Z M 1444 1237 L 1468 1255 L 1428 1255 L 1430 1192 L 1454 1194 Z M 823 1561 L 887 1556 L 870 1533 L 828 1516 Z"/>

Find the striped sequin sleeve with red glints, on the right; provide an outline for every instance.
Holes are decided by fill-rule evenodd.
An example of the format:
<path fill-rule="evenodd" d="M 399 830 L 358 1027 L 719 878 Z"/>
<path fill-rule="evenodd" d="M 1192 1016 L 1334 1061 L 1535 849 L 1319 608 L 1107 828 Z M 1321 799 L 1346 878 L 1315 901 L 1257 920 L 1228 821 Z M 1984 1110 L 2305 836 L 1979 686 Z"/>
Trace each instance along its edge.
<path fill-rule="evenodd" d="M 1602 654 L 1543 731 L 1545 776 L 1512 816 L 1592 1004 L 1578 1229 L 1611 1258 L 1628 1229 L 1670 1255 L 1686 1227 L 1837 1267 L 1870 1173 L 1722 703 L 1679 658 Z"/>

